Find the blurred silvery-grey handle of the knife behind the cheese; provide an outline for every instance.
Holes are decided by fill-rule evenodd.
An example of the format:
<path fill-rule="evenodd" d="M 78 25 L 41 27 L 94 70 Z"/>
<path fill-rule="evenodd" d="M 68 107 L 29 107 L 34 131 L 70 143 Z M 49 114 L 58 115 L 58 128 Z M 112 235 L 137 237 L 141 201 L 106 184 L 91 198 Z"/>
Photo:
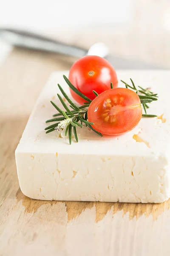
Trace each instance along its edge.
<path fill-rule="evenodd" d="M 63 44 L 54 39 L 18 29 L 0 28 L 0 38 L 3 38 L 4 41 L 17 47 L 55 52 L 78 58 L 81 58 L 88 53 L 86 49 Z"/>

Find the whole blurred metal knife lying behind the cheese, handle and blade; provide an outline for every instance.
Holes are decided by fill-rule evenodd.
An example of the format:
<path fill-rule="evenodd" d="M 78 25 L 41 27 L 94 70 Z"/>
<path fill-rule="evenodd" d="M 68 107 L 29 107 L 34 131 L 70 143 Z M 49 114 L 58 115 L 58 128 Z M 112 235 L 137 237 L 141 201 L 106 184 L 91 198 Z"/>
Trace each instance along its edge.
<path fill-rule="evenodd" d="M 142 61 L 129 60 L 108 54 L 108 48 L 103 43 L 96 43 L 90 49 L 64 44 L 57 40 L 38 35 L 33 32 L 0 28 L 0 39 L 15 47 L 29 48 L 46 52 L 54 52 L 81 58 L 85 55 L 99 55 L 106 58 L 116 69 L 160 69 Z"/>

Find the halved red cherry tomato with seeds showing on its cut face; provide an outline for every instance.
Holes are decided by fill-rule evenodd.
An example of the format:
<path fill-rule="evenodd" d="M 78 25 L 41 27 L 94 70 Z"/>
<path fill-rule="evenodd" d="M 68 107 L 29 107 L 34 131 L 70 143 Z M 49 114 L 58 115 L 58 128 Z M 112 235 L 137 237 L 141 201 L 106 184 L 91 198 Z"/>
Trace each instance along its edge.
<path fill-rule="evenodd" d="M 123 134 L 135 128 L 141 118 L 139 96 L 126 88 L 101 93 L 88 108 L 88 121 L 93 122 L 93 128 L 102 134 Z"/>

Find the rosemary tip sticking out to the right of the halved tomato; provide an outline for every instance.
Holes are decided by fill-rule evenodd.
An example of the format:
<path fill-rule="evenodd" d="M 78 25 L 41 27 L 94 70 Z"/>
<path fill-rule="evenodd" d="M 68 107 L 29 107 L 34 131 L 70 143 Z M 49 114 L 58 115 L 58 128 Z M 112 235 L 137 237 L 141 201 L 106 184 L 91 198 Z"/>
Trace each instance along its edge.
<path fill-rule="evenodd" d="M 120 80 L 120 81 L 122 81 L 122 80 Z M 138 86 L 139 89 L 137 89 L 135 84 L 134 84 L 134 82 L 133 82 L 133 80 L 131 78 L 130 78 L 130 81 L 132 83 L 132 86 L 127 84 L 127 83 L 125 83 L 124 81 L 122 81 L 122 83 L 125 84 L 126 88 L 130 88 L 131 90 L 134 90 L 138 94 L 138 96 L 140 98 L 140 101 L 141 101 L 141 104 L 142 104 L 143 109 L 144 109 L 144 113 L 145 113 L 142 116 L 143 117 L 156 117 L 156 115 L 147 115 L 147 109 L 149 108 L 147 103 L 150 103 L 150 102 L 158 100 L 157 99 L 158 98 L 158 94 L 151 92 L 150 88 L 144 89 L 143 87 Z"/>

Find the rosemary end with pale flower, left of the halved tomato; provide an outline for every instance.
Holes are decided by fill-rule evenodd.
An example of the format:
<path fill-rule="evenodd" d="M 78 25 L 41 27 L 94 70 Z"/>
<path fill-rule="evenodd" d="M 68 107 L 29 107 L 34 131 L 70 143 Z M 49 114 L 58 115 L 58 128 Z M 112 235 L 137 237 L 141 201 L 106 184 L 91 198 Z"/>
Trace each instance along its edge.
<path fill-rule="evenodd" d="M 78 142 L 78 136 L 77 136 L 77 130 L 76 128 L 79 126 L 80 128 L 83 127 L 83 124 L 85 126 L 88 126 L 91 128 L 92 131 L 96 132 L 96 134 L 99 134 L 102 136 L 101 133 L 96 131 L 91 125 L 94 125 L 94 123 L 88 121 L 88 107 L 91 103 L 91 99 L 86 97 L 84 94 L 80 93 L 79 90 L 77 90 L 73 84 L 68 80 L 66 76 L 63 76 L 68 86 L 74 90 L 77 95 L 82 97 L 86 102 L 84 105 L 78 107 L 77 105 L 72 102 L 72 100 L 68 97 L 68 95 L 65 93 L 65 91 L 62 89 L 62 87 L 58 84 L 59 90 L 62 93 L 62 95 L 65 97 L 67 102 L 70 104 L 69 107 L 72 108 L 71 110 L 68 105 L 64 102 L 62 99 L 62 96 L 57 93 L 57 96 L 59 98 L 59 101 L 61 102 L 62 106 L 64 107 L 65 111 L 61 110 L 59 106 L 57 106 L 54 102 L 51 101 L 51 104 L 54 106 L 55 109 L 57 109 L 58 113 L 54 114 L 54 118 L 48 119 L 46 123 L 48 122 L 56 122 L 52 125 L 49 125 L 45 128 L 46 133 L 50 133 L 52 131 L 63 131 L 65 130 L 65 137 L 68 134 L 68 140 L 71 144 L 72 142 L 72 131 L 74 133 L 74 137 L 76 142 Z M 94 91 L 94 94 L 98 96 L 98 93 Z"/>

